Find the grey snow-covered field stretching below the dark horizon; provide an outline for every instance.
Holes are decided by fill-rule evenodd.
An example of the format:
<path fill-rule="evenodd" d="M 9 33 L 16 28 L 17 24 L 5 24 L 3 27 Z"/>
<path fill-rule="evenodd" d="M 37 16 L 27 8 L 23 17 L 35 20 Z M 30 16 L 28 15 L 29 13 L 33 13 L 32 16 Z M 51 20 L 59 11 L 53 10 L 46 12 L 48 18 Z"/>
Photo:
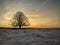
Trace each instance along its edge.
<path fill-rule="evenodd" d="M 60 29 L 0 29 L 0 45 L 60 45 Z"/>

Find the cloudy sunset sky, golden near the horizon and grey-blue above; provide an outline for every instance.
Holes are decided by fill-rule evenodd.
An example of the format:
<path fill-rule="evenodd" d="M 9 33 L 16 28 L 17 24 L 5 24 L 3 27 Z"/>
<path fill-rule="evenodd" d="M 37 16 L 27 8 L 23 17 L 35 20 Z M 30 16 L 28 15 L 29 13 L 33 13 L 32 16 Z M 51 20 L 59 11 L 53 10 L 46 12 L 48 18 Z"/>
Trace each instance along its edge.
<path fill-rule="evenodd" d="M 60 28 L 60 0 L 0 0 L 0 27 L 13 27 L 9 20 L 18 12 L 29 19 L 31 28 Z"/>

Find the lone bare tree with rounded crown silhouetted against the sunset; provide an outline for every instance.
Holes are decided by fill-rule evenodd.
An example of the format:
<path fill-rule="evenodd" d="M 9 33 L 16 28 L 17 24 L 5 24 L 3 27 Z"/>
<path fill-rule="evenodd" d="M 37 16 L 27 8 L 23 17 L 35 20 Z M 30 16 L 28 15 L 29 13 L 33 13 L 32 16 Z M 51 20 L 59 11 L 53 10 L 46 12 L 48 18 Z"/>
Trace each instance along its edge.
<path fill-rule="evenodd" d="M 28 18 L 24 15 L 23 12 L 17 12 L 13 16 L 11 23 L 12 23 L 12 26 L 19 26 L 19 28 L 21 28 L 21 26 L 29 25 Z"/>

